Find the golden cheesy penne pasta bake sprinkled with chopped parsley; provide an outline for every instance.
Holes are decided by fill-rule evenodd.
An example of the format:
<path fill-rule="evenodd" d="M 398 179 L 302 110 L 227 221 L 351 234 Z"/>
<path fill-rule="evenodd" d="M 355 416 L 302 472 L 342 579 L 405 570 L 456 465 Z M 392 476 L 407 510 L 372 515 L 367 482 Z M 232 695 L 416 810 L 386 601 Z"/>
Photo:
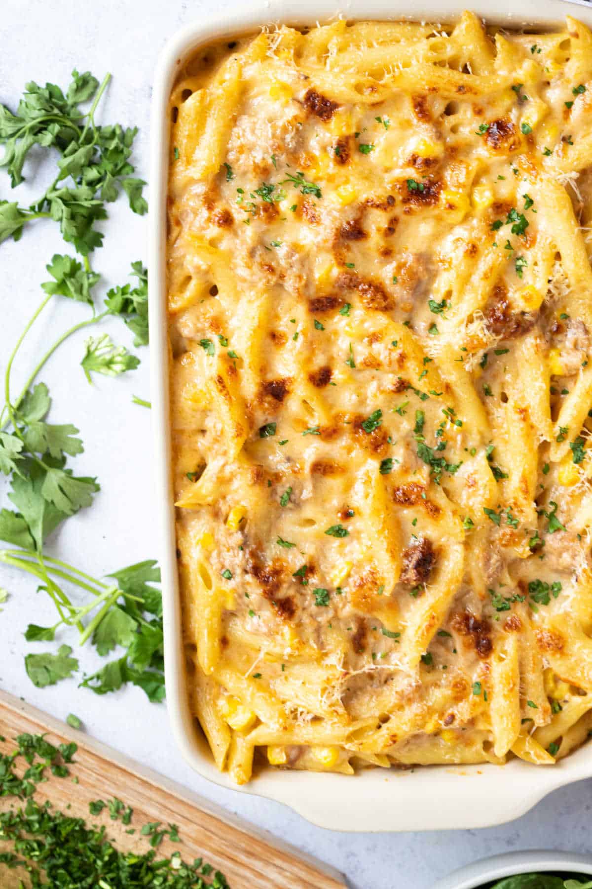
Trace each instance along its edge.
<path fill-rule="evenodd" d="M 592 730 L 592 36 L 347 22 L 170 97 L 187 685 L 213 757 L 553 765 Z"/>

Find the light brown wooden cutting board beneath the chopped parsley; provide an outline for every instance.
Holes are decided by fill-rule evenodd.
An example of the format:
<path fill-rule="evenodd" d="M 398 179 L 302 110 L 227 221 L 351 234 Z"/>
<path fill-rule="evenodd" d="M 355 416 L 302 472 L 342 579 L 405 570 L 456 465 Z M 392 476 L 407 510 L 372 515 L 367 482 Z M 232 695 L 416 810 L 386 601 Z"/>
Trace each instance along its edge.
<path fill-rule="evenodd" d="M 81 817 L 88 823 L 106 824 L 107 837 L 124 851 L 149 849 L 148 839 L 139 836 L 147 821 L 162 821 L 163 826 L 172 822 L 178 825 L 181 843 L 163 840 L 159 857 L 161 854 L 169 857 L 179 851 L 185 861 L 203 858 L 225 874 L 231 889 L 343 889 L 345 886 L 341 874 L 328 865 L 0 691 L 0 736 L 6 739 L 0 741 L 0 751 L 12 752 L 16 747 L 13 739 L 25 732 L 46 733 L 52 744 L 75 741 L 78 745 L 74 763 L 69 766 L 70 777 L 50 776 L 49 781 L 38 784 L 37 802 L 49 799 L 63 813 Z M 46 774 L 49 775 L 49 770 Z M 77 784 L 72 781 L 73 777 L 78 779 Z M 92 800 L 107 802 L 113 797 L 132 807 L 131 826 L 137 828 L 133 837 L 125 833 L 127 828 L 121 821 L 110 820 L 107 809 L 100 815 L 90 815 Z M 13 797 L 0 797 L 0 811 L 16 802 Z M 0 865 L 0 885 L 3 889 L 16 889 L 22 872 L 3 868 Z"/>

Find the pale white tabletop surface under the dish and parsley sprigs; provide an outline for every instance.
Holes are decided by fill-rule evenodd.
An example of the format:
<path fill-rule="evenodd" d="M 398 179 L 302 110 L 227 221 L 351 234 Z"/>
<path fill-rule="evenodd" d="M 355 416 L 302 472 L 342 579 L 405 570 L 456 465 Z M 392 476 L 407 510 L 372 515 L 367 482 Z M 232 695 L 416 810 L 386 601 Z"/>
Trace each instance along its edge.
<path fill-rule="evenodd" d="M 139 126 L 138 171 L 147 176 L 148 112 L 156 55 L 175 29 L 206 14 L 209 3 L 211 0 L 3 0 L 0 101 L 16 104 L 29 79 L 67 84 L 72 68 L 90 68 L 99 78 L 111 71 L 114 79 L 101 118 Z M 217 8 L 230 5 L 227 0 L 217 0 Z M 32 178 L 35 164 L 28 172 Z M 43 176 L 41 169 L 40 180 Z M 40 190 L 38 185 L 22 187 L 21 200 L 32 200 Z M 13 199 L 4 172 L 0 172 L 2 198 Z M 105 225 L 105 247 L 94 260 L 109 285 L 125 280 L 130 260 L 146 260 L 146 220 L 117 206 L 110 217 Z M 0 247 L 2 372 L 7 350 L 40 299 L 39 284 L 47 277 L 45 263 L 53 252 L 66 252 L 55 228 L 42 220 L 19 244 L 10 241 Z M 84 316 L 84 307 L 66 300 L 62 303 L 46 310 L 43 321 L 26 340 L 15 370 L 16 383 L 59 331 Z M 130 345 L 130 335 L 121 322 L 114 320 L 108 329 L 114 339 Z M 155 552 L 150 414 L 131 404 L 132 393 L 149 397 L 148 353 L 141 350 L 138 371 L 120 380 L 100 377 L 90 387 L 78 366 L 83 339 L 81 333 L 62 347 L 42 379 L 54 397 L 52 421 L 74 422 L 81 429 L 85 452 L 76 461 L 79 474 L 97 475 L 102 490 L 91 509 L 67 522 L 51 542 L 51 549 L 99 576 L 153 557 Z M 3 489 L 0 479 L 0 504 L 5 506 Z M 170 737 L 165 707 L 148 703 L 140 690 L 130 688 L 97 697 L 77 688 L 74 680 L 44 690 L 31 685 L 24 653 L 50 646 L 28 645 L 22 633 L 29 621 L 51 621 L 53 606 L 43 593 L 36 594 L 36 584 L 28 576 L 2 570 L 0 586 L 10 591 L 0 613 L 0 685 L 5 690 L 56 717 L 75 712 L 92 735 L 330 861 L 357 889 L 430 889 L 447 871 L 506 850 L 590 851 L 589 781 L 557 791 L 524 818 L 500 828 L 399 835 L 322 830 L 281 805 L 220 789 L 184 764 Z M 85 649 L 80 653 L 81 665 L 88 671 L 99 661 L 91 655 Z M 446 806 L 446 800 L 434 799 L 432 805 Z M 481 805 L 486 807 L 487 800 Z"/>

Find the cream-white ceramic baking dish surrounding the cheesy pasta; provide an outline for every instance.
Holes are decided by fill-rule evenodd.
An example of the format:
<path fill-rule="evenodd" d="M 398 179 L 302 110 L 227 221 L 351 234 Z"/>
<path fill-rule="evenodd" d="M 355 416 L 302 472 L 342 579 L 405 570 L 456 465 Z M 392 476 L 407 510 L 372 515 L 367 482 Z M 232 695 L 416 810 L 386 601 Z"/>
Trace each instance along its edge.
<path fill-rule="evenodd" d="M 162 51 L 154 78 L 150 199 L 150 342 L 154 418 L 154 474 L 158 495 L 164 608 L 165 666 L 170 723 L 185 759 L 210 781 L 234 787 L 217 772 L 199 728 L 193 723 L 185 691 L 181 613 L 175 555 L 174 508 L 170 485 L 169 386 L 165 310 L 165 207 L 169 162 L 168 99 L 183 60 L 217 37 L 256 31 L 262 25 L 313 25 L 339 13 L 347 18 L 429 21 L 454 20 L 465 4 L 424 0 L 409 15 L 401 0 L 237 0 L 236 12 L 202 18 L 173 36 Z M 496 25 L 545 27 L 572 13 L 588 26 L 588 4 L 561 0 L 477 0 L 466 4 Z M 587 8 L 588 7 L 588 8 Z M 414 771 L 368 769 L 356 777 L 268 769 L 242 792 L 255 793 L 292 806 L 320 827 L 341 830 L 420 830 L 481 828 L 510 821 L 528 811 L 551 790 L 592 776 L 592 750 L 580 749 L 552 768 L 514 760 L 509 765 Z M 434 805 L 436 804 L 436 805 Z"/>

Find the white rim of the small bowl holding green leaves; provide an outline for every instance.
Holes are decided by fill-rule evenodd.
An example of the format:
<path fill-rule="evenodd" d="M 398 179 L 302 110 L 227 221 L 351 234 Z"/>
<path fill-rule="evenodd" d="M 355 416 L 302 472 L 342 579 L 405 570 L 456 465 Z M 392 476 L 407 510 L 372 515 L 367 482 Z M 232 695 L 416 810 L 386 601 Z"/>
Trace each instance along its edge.
<path fill-rule="evenodd" d="M 434 889 L 480 889 L 493 880 L 515 874 L 544 874 L 557 871 L 566 877 L 592 875 L 592 857 L 570 852 L 510 852 L 475 861 L 440 880 Z"/>

